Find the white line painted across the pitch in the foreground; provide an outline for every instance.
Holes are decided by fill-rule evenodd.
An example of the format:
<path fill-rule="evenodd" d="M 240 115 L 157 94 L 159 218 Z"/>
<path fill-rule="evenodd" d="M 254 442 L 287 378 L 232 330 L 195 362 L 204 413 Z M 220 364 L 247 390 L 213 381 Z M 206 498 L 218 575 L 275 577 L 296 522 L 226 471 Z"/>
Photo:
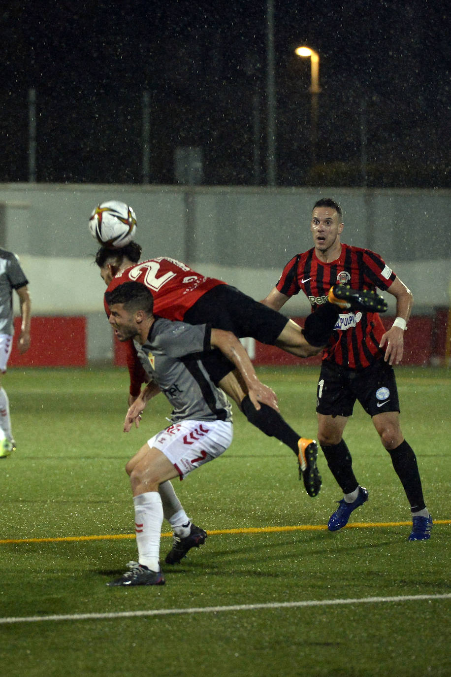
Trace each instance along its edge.
<path fill-rule="evenodd" d="M 400 597 L 364 597 L 360 599 L 323 599 L 304 602 L 270 602 L 266 604 L 237 604 L 230 607 L 189 607 L 187 609 L 150 609 L 148 611 L 118 611 L 117 613 L 68 613 L 52 616 L 18 616 L 0 618 L 0 624 L 39 623 L 41 621 L 90 621 L 108 618 L 137 618 L 139 616 L 167 616 L 184 613 L 222 613 L 224 611 L 254 611 L 254 609 L 294 609 L 296 607 L 333 607 L 345 604 L 410 602 L 451 599 L 450 594 L 417 594 Z"/>

